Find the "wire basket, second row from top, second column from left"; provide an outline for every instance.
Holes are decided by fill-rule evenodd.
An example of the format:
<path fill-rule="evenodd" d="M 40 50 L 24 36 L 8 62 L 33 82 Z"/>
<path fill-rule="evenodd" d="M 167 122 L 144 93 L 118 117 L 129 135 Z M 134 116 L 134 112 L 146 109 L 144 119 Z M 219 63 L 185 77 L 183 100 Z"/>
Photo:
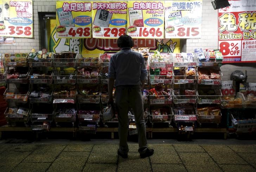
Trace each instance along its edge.
<path fill-rule="evenodd" d="M 53 72 L 51 75 L 33 75 L 33 72 L 30 71 L 28 75 L 28 80 L 30 84 L 52 84 L 53 81 Z"/>

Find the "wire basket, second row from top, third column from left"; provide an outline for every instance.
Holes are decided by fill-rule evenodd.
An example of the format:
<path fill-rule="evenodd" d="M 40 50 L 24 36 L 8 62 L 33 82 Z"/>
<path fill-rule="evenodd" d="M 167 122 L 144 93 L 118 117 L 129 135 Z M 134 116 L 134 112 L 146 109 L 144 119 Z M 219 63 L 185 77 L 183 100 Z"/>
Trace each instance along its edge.
<path fill-rule="evenodd" d="M 55 70 L 53 72 L 53 81 L 55 84 L 76 84 L 76 74 L 74 70 Z"/>

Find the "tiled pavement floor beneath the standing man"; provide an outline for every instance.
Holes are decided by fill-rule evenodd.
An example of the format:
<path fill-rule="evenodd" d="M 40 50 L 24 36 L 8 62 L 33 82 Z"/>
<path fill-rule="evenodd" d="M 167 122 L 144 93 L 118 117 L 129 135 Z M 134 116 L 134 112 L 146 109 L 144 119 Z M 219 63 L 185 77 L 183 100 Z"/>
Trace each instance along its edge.
<path fill-rule="evenodd" d="M 0 171 L 154 171 L 154 172 L 256 172 L 256 142 L 208 143 L 195 141 L 150 141 L 155 149 L 150 158 L 141 159 L 138 145 L 129 143 L 128 159 L 117 156 L 118 140 L 88 142 L 0 143 Z"/>

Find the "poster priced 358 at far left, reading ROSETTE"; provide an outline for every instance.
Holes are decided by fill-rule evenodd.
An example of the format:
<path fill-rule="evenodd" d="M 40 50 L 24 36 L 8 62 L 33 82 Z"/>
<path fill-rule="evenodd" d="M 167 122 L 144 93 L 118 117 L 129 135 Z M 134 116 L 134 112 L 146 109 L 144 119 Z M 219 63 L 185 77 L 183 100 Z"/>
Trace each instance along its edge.
<path fill-rule="evenodd" d="M 33 37 L 32 0 L 0 0 L 0 37 Z"/>

